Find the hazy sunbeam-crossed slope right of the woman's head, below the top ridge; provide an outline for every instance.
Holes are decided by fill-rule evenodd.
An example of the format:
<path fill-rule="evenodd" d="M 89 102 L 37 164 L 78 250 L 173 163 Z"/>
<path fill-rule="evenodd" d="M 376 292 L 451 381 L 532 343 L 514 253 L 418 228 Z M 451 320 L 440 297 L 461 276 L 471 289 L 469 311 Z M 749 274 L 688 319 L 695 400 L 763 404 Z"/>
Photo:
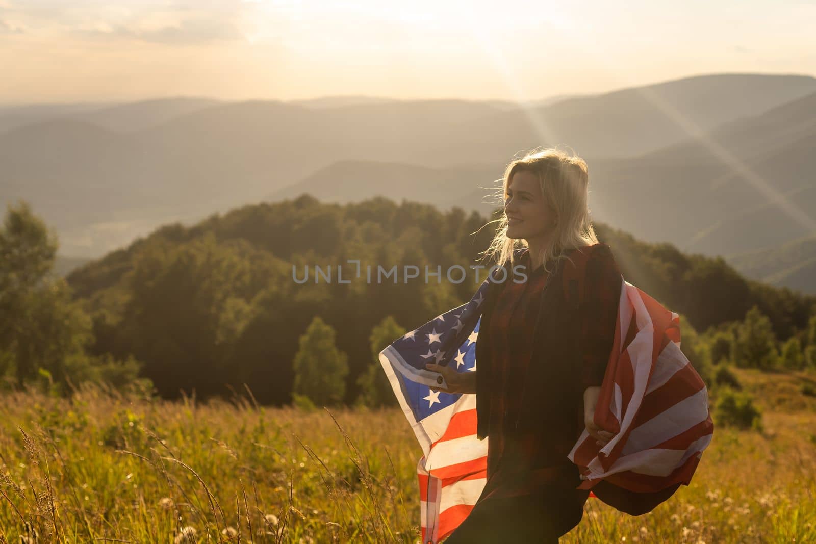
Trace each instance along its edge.
<path fill-rule="evenodd" d="M 816 93 L 641 157 L 595 161 L 598 217 L 650 241 L 733 254 L 816 233 Z"/>

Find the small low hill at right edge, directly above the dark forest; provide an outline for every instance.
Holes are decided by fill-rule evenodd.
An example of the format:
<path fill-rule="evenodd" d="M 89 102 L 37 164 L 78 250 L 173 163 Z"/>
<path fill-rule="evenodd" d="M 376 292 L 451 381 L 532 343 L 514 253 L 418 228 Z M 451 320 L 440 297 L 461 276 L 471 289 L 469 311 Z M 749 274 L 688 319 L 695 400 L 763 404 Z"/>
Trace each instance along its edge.
<path fill-rule="evenodd" d="M 816 237 L 792 240 L 778 247 L 727 255 L 741 274 L 770 285 L 816 294 Z"/>

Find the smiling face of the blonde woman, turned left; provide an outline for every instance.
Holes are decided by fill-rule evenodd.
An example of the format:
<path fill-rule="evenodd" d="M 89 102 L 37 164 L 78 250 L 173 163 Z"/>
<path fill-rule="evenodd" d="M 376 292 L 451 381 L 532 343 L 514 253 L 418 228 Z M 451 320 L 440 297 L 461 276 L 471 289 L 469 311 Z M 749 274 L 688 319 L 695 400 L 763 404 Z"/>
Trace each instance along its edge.
<path fill-rule="evenodd" d="M 555 210 L 544 200 L 539 178 L 532 172 L 512 175 L 504 195 L 504 214 L 508 216 L 508 238 L 529 242 L 531 238 L 546 239 L 555 230 Z"/>

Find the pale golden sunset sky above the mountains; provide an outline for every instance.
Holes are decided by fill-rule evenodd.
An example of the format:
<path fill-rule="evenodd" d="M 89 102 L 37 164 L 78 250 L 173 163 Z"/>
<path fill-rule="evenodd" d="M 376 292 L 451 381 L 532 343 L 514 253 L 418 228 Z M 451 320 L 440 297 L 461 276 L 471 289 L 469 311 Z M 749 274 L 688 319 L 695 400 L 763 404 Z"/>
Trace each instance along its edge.
<path fill-rule="evenodd" d="M 0 104 L 539 100 L 816 75 L 816 2 L 0 0 Z"/>

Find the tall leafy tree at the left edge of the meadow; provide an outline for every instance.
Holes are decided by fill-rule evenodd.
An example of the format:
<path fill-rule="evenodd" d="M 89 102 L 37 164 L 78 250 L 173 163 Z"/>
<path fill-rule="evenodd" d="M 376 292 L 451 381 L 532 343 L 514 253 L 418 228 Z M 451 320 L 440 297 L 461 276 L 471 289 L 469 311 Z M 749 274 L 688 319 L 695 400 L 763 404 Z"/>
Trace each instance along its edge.
<path fill-rule="evenodd" d="M 41 382 L 64 393 L 69 381 L 135 379 L 139 363 L 89 356 L 91 319 L 69 285 L 51 274 L 57 237 L 25 201 L 8 206 L 0 228 L 0 376 L 16 386 Z"/>

